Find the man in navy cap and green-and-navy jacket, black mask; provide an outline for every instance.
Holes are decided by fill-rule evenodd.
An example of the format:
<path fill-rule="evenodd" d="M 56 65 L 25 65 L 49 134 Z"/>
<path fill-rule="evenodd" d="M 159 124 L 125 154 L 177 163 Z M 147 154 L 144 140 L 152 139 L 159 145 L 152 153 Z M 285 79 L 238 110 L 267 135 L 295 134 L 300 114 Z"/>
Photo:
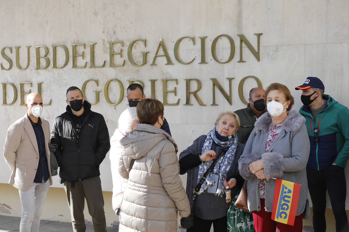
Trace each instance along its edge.
<path fill-rule="evenodd" d="M 344 166 L 349 158 L 349 110 L 329 95 L 319 78 L 308 77 L 299 113 L 306 119 L 310 139 L 308 189 L 313 202 L 314 231 L 326 231 L 326 190 L 336 219 L 336 231 L 349 231 L 345 209 L 347 186 Z"/>

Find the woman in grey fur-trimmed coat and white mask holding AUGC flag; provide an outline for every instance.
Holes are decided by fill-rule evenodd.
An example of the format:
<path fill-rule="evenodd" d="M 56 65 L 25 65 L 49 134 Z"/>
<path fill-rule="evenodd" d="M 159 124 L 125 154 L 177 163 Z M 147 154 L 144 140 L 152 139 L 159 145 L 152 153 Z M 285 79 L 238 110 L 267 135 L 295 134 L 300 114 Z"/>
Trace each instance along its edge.
<path fill-rule="evenodd" d="M 279 83 L 267 90 L 267 109 L 254 124 L 239 159 L 240 175 L 247 180 L 248 209 L 253 212 L 254 229 L 260 231 L 302 231 L 302 218 L 310 216 L 306 163 L 310 143 L 305 119 L 290 111 L 294 98 Z M 274 115 L 274 116 L 273 116 Z M 271 219 L 275 179 L 301 184 L 294 226 Z"/>

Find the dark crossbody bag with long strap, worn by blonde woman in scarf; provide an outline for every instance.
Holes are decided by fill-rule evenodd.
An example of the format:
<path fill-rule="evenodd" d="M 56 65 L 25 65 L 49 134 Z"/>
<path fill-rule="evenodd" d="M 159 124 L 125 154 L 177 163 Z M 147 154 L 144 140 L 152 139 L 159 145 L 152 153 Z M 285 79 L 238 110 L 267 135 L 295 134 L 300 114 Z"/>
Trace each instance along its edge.
<path fill-rule="evenodd" d="M 206 177 L 208 174 L 210 174 L 214 167 L 216 166 L 216 163 L 218 160 L 225 154 L 225 151 L 223 151 L 210 165 L 210 167 L 207 169 L 205 174 L 200 178 L 199 183 L 195 186 L 193 189 L 193 192 L 190 194 L 188 197 L 189 199 L 189 204 L 190 204 L 190 215 L 188 217 L 182 217 L 180 219 L 180 227 L 184 229 L 189 229 L 194 225 L 194 203 L 195 203 L 195 198 L 197 195 L 199 195 L 199 191 L 201 189 L 201 186 L 203 185 L 203 182 L 205 182 Z"/>

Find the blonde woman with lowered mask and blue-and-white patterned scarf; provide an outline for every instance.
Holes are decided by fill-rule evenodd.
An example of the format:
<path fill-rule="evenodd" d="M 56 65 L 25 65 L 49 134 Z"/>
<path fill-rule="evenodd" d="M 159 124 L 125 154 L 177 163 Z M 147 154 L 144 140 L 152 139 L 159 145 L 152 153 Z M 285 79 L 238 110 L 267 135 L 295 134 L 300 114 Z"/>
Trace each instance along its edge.
<path fill-rule="evenodd" d="M 201 135 L 179 155 L 180 174 L 187 173 L 187 195 L 193 193 L 200 178 L 222 153 L 214 170 L 201 186 L 194 204 L 194 225 L 187 232 L 209 232 L 213 224 L 215 232 L 227 231 L 227 212 L 231 203 L 225 200 L 225 187 L 234 196 L 238 185 L 241 189 L 244 179 L 239 175 L 238 160 L 244 145 L 238 143 L 236 131 L 240 120 L 236 113 L 224 112 L 218 115 L 214 128 Z M 215 183 L 212 185 L 211 183 Z"/>

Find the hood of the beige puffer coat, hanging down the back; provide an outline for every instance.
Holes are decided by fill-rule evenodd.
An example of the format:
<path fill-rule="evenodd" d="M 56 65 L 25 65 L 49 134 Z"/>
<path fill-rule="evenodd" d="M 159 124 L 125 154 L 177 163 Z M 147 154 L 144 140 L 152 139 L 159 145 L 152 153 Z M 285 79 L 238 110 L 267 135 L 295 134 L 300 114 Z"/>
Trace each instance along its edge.
<path fill-rule="evenodd" d="M 126 155 L 132 159 L 140 159 L 146 155 L 154 146 L 164 139 L 168 139 L 178 151 L 177 144 L 173 138 L 164 130 L 149 124 L 138 124 L 134 131 L 120 140 L 124 146 Z"/>

